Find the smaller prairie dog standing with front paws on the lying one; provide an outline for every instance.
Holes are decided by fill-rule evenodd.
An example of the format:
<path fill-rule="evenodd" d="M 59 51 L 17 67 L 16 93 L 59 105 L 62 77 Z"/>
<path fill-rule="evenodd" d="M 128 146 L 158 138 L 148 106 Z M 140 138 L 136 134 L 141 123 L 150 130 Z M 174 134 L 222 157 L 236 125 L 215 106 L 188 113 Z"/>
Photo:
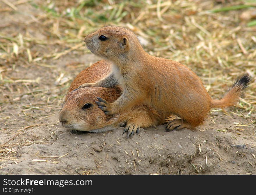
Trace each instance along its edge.
<path fill-rule="evenodd" d="M 112 63 L 112 72 L 87 86 L 115 87 L 122 95 L 113 103 L 98 98 L 97 104 L 106 115 L 116 115 L 137 104 L 146 104 L 165 118 L 174 114 L 166 131 L 202 124 L 211 108 L 235 105 L 251 77 L 235 81 L 221 100 L 212 100 L 200 78 L 187 66 L 170 59 L 147 54 L 134 32 L 118 26 L 106 26 L 85 37 L 88 49 Z"/>

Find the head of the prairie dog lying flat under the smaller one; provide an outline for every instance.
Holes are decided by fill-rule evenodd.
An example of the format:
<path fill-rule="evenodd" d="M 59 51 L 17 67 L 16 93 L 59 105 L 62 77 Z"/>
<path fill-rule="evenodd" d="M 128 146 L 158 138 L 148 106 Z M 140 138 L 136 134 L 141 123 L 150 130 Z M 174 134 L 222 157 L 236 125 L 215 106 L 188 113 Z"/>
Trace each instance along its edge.
<path fill-rule="evenodd" d="M 98 108 L 97 97 L 113 102 L 120 96 L 118 89 L 85 87 L 67 93 L 59 114 L 61 125 L 70 130 L 92 131 L 104 127 L 109 116 Z"/>

